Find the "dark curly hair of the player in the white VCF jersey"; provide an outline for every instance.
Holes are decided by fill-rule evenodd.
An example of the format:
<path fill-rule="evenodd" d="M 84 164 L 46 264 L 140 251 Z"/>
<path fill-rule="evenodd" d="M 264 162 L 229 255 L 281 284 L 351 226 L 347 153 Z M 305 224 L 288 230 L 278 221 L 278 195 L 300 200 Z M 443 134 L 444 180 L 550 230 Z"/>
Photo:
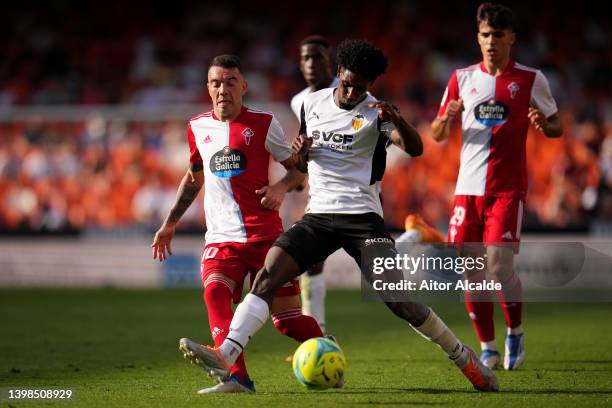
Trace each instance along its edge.
<path fill-rule="evenodd" d="M 365 40 L 345 39 L 338 45 L 338 65 L 372 82 L 387 70 L 387 57 Z"/>

